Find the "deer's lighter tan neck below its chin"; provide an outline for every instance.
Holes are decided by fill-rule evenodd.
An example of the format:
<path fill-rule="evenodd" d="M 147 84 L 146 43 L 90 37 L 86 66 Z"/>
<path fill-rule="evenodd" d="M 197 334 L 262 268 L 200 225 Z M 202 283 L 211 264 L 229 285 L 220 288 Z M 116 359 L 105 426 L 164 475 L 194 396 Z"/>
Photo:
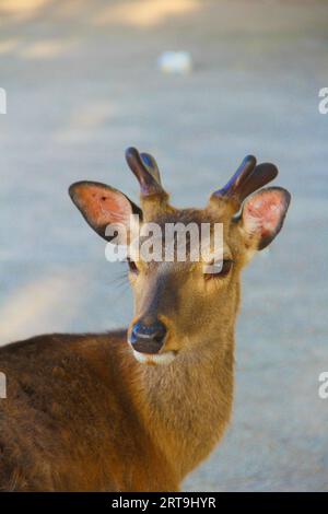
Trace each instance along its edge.
<path fill-rule="evenodd" d="M 138 401 L 144 425 L 183 478 L 206 458 L 230 420 L 234 330 L 203 341 L 169 365 L 140 365 Z"/>

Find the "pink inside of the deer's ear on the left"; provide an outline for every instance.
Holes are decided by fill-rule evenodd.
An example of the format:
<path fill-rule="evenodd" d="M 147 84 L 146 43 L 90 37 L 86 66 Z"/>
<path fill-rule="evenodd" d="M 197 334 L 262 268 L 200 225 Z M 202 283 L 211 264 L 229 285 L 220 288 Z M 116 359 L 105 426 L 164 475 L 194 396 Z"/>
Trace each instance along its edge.
<path fill-rule="evenodd" d="M 94 225 L 127 224 L 132 213 L 129 200 L 121 192 L 106 187 L 81 185 L 75 191 L 75 199 Z"/>

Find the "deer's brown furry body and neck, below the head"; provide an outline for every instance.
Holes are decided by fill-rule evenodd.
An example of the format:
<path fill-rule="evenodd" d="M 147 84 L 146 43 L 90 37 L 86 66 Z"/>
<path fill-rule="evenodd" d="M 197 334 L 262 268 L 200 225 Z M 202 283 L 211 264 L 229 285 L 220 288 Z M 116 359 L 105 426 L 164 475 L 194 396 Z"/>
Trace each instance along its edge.
<path fill-rule="evenodd" d="M 2 491 L 174 491 L 230 416 L 231 354 L 222 375 L 210 352 L 167 374 L 139 364 L 116 332 L 42 336 L 0 358 Z"/>

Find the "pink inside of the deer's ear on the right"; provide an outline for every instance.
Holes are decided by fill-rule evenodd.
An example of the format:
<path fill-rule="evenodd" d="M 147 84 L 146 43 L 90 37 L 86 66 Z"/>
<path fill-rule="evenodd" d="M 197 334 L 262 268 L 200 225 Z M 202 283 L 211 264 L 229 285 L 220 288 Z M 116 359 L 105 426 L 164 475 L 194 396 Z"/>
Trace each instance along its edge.
<path fill-rule="evenodd" d="M 250 198 L 243 218 L 247 232 L 265 238 L 274 234 L 281 224 L 286 205 L 280 190 L 261 191 Z"/>

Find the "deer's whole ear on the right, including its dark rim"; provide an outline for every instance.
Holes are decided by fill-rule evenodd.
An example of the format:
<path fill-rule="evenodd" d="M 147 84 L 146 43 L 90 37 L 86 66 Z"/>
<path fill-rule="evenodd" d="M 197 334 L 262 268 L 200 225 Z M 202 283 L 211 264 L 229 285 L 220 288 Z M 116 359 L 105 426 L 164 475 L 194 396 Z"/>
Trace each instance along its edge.
<path fill-rule="evenodd" d="M 281 187 L 261 189 L 246 200 L 238 223 L 249 248 L 266 248 L 274 240 L 290 201 L 290 192 Z"/>

